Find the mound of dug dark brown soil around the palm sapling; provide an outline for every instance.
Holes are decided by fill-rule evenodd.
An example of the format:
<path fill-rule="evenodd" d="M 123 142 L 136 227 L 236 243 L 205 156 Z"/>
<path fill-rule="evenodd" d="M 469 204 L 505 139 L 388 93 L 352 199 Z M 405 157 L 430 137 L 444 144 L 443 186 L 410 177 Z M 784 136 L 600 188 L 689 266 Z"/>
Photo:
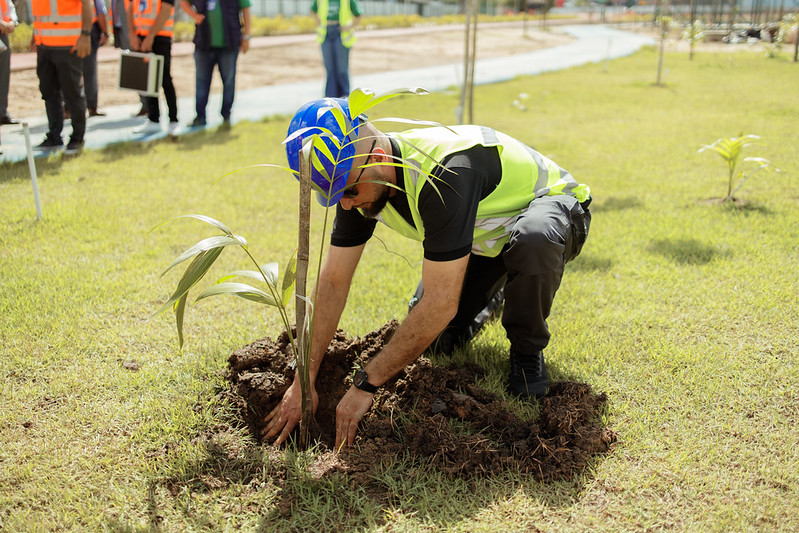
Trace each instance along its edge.
<path fill-rule="evenodd" d="M 353 368 L 377 354 L 396 328 L 391 322 L 354 339 L 337 332 L 320 370 L 324 379 L 317 383 L 315 437 L 328 448 L 335 441 L 336 405 L 352 383 Z M 232 390 L 257 438 L 264 417 L 294 377 L 291 360 L 285 334 L 276 342 L 256 341 L 229 358 Z M 356 446 L 338 454 L 330 470 L 363 481 L 380 464 L 408 453 L 457 476 L 512 470 L 544 481 L 569 479 L 616 440 L 598 423 L 605 394 L 593 393 L 587 384 L 553 383 L 541 402 L 540 418 L 523 420 L 502 397 L 476 384 L 483 375 L 477 365 L 444 368 L 420 358 L 375 395 Z"/>

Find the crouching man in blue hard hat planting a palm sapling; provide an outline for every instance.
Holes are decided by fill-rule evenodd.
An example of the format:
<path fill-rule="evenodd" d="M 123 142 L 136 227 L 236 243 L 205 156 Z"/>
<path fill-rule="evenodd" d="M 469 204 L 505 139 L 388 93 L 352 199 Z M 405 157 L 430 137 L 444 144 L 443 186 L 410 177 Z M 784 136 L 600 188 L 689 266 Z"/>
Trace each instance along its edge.
<path fill-rule="evenodd" d="M 345 138 L 333 108 L 344 113 L 348 129 L 355 133 Z M 511 346 L 508 388 L 526 398 L 546 394 L 546 320 L 564 267 L 577 257 L 588 235 L 589 188 L 532 148 L 491 128 L 434 127 L 385 134 L 351 117 L 344 99 L 301 107 L 289 134 L 303 128 L 329 130 L 344 146 L 337 153 L 328 141 L 338 163 L 324 164 L 324 173 L 314 167 L 312 176 L 319 188 L 332 192 L 329 204 L 317 193 L 320 203 L 338 204 L 316 289 L 312 384 L 320 377 L 322 359 L 377 222 L 420 241 L 424 249 L 424 294 L 388 344 L 356 372 L 353 386 L 336 408 L 336 449 L 353 443 L 358 421 L 381 385 L 415 361 L 446 328 L 470 323 L 503 286 L 502 325 Z M 313 133 L 309 130 L 305 136 Z M 356 139 L 357 147 L 351 142 Z M 295 172 L 302 142 L 300 136 L 286 144 Z M 410 168 L 396 166 L 398 161 L 409 162 Z M 332 187 L 326 175 L 332 176 Z M 312 397 L 316 405 L 315 391 Z M 264 435 L 282 443 L 301 414 L 295 377 L 281 403 L 267 415 Z"/>

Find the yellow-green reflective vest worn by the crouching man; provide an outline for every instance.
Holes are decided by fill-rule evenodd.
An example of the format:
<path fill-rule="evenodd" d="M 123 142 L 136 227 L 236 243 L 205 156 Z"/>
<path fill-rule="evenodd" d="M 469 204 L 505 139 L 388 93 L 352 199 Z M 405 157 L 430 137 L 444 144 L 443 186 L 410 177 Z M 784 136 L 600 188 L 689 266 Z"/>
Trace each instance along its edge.
<path fill-rule="evenodd" d="M 453 131 L 454 130 L 454 131 Z M 584 202 L 590 196 L 587 185 L 578 184 L 567 171 L 532 148 L 491 128 L 452 126 L 425 128 L 389 134 L 400 146 L 403 163 L 418 170 L 403 169 L 403 180 L 414 225 L 409 224 L 391 204 L 378 220 L 401 235 L 424 241 L 419 213 L 419 196 L 429 175 L 449 154 L 473 146 L 496 146 L 502 164 L 502 179 L 496 189 L 480 201 L 474 226 L 472 253 L 495 257 L 507 244 L 513 225 L 535 198 L 567 194 Z"/>

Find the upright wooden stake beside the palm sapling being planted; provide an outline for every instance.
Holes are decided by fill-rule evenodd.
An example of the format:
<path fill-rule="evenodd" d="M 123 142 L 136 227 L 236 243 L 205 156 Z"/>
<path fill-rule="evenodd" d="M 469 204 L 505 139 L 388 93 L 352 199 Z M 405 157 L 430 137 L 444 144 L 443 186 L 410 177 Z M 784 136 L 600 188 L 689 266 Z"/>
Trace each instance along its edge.
<path fill-rule="evenodd" d="M 309 143 L 310 147 L 310 143 Z M 300 448 L 308 445 L 308 435 L 313 421 L 313 401 L 308 365 L 311 360 L 310 339 L 305 334 L 307 311 L 308 260 L 311 242 L 311 165 L 312 148 L 306 152 L 303 147 L 300 155 L 300 213 L 299 236 L 297 244 L 297 372 L 302 390 L 302 419 L 300 420 Z"/>

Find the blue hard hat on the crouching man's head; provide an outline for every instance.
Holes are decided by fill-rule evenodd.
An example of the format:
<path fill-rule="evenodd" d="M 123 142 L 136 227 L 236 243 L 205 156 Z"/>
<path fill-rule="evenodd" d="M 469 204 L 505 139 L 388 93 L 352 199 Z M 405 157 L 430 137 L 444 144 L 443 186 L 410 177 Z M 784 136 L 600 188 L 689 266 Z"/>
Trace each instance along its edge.
<path fill-rule="evenodd" d="M 289 166 L 299 179 L 303 142 L 316 135 L 311 181 L 316 200 L 325 207 L 341 200 L 355 157 L 359 125 L 359 118 L 350 116 L 350 105 L 345 98 L 313 100 L 300 107 L 291 119 L 285 141 Z"/>

